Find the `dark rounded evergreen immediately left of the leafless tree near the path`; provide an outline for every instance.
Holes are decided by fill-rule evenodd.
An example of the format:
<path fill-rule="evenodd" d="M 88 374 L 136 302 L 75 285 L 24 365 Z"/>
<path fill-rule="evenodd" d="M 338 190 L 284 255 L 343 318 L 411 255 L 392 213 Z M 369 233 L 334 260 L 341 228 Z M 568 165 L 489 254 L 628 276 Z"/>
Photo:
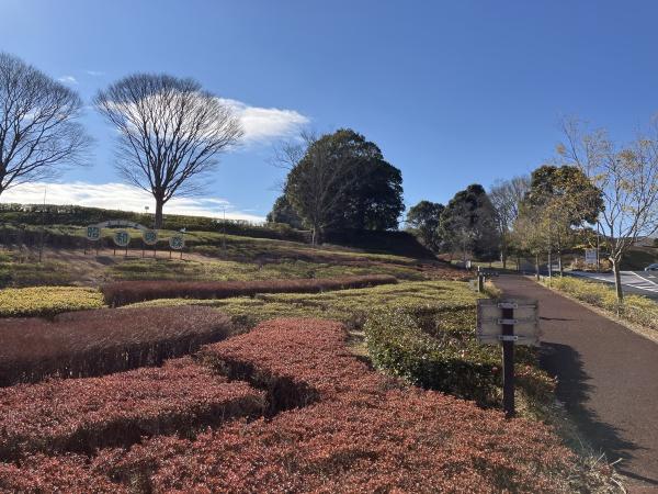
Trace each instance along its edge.
<path fill-rule="evenodd" d="M 496 211 L 483 186 L 474 183 L 457 192 L 441 214 L 440 234 L 445 247 L 491 260 L 499 254 Z"/>

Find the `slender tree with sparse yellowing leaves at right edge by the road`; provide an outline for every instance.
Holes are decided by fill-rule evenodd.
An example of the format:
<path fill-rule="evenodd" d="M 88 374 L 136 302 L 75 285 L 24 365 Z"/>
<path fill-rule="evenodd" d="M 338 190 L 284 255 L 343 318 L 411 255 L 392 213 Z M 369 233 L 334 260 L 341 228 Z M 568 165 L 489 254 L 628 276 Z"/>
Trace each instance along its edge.
<path fill-rule="evenodd" d="M 599 215 L 610 248 L 617 301 L 623 302 L 621 262 L 627 250 L 658 229 L 658 122 L 619 148 L 603 130 L 589 131 L 574 119 L 563 121 L 559 157 L 577 165 L 602 191 Z"/>

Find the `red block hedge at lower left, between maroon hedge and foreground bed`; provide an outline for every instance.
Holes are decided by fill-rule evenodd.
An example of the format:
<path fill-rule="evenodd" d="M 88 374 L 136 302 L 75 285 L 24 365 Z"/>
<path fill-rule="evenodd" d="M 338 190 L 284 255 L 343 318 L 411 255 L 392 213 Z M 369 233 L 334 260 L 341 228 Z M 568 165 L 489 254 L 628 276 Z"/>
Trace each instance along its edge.
<path fill-rule="evenodd" d="M 34 451 L 91 453 L 143 436 L 184 434 L 262 415 L 264 393 L 227 382 L 189 357 L 103 378 L 48 380 L 0 390 L 0 458 Z"/>

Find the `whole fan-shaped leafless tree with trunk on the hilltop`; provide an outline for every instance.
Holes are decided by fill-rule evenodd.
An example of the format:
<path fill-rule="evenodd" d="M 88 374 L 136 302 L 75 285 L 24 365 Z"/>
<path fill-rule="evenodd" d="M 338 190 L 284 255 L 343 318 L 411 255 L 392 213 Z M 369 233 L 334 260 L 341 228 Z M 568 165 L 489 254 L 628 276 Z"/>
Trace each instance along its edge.
<path fill-rule="evenodd" d="M 192 79 L 137 74 L 94 102 L 118 131 L 117 170 L 156 200 L 157 228 L 163 205 L 174 194 L 198 193 L 200 176 L 242 136 L 231 108 Z"/>

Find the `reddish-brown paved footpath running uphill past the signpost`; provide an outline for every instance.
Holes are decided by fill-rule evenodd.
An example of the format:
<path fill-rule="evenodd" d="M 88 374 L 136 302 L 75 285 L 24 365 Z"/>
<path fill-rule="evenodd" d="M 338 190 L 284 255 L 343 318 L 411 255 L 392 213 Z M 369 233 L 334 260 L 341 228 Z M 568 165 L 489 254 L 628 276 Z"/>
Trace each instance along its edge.
<path fill-rule="evenodd" d="M 541 362 L 581 434 L 632 492 L 658 492 L 658 345 L 520 276 L 496 281 L 506 296 L 540 302 Z"/>

